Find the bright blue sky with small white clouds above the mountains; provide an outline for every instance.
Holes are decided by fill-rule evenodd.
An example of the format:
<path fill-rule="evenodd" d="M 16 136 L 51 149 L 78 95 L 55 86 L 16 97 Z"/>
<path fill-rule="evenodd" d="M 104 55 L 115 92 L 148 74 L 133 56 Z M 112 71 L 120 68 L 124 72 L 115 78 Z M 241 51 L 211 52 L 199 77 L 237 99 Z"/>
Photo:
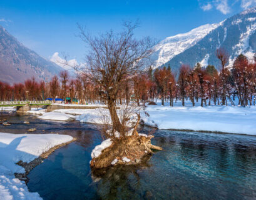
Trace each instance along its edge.
<path fill-rule="evenodd" d="M 65 53 L 83 61 L 77 23 L 93 34 L 120 31 L 123 20 L 139 19 L 137 37 L 161 40 L 207 23 L 223 21 L 256 0 L 14 1 L 0 0 L 0 24 L 44 58 Z"/>

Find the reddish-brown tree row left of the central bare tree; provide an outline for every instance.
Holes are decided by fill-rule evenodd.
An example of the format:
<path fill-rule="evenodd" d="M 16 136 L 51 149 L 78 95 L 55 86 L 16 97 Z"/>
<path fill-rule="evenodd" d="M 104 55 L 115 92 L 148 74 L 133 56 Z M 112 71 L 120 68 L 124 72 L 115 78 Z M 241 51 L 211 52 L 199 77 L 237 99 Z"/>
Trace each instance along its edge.
<path fill-rule="evenodd" d="M 0 101 L 41 101 L 46 98 L 78 98 L 80 103 L 95 103 L 98 96 L 95 87 L 83 76 L 73 78 L 68 71 L 61 71 L 51 81 L 28 79 L 11 86 L 0 81 Z"/>

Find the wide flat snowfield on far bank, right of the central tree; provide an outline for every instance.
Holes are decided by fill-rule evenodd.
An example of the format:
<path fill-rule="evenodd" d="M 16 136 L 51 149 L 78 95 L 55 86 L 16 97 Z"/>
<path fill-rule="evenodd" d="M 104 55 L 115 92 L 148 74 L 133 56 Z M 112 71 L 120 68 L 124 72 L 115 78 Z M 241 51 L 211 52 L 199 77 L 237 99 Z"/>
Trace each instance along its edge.
<path fill-rule="evenodd" d="M 181 106 L 180 101 L 173 107 L 147 106 L 150 117 L 141 113 L 141 119 L 149 126 L 159 129 L 188 129 L 193 131 L 213 131 L 233 134 L 256 135 L 256 106 L 207 106 L 199 103 L 192 107 L 190 101 Z"/>

